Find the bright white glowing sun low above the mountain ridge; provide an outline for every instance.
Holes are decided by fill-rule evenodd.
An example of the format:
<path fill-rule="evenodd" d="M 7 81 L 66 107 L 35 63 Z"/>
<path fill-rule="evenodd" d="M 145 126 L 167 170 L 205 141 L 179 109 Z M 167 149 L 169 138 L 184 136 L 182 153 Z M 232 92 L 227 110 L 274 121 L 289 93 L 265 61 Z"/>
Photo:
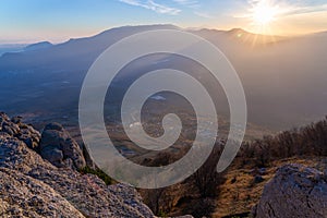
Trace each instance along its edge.
<path fill-rule="evenodd" d="M 277 19 L 278 7 L 272 5 L 267 0 L 263 0 L 253 5 L 251 12 L 255 25 L 268 26 Z"/>

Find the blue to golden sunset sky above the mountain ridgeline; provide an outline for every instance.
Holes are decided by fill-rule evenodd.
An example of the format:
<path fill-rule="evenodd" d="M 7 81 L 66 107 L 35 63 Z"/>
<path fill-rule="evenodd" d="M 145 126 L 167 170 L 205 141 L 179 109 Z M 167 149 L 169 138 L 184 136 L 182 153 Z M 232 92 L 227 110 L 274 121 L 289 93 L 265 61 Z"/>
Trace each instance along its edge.
<path fill-rule="evenodd" d="M 310 34 L 327 31 L 327 0 L 0 0 L 0 44 L 61 43 L 146 24 Z"/>

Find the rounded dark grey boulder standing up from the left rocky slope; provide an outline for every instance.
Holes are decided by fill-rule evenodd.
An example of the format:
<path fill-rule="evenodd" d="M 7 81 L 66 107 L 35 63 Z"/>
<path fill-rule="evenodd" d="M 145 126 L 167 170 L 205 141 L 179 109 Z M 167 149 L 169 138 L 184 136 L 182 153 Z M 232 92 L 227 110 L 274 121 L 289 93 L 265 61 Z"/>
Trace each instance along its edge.
<path fill-rule="evenodd" d="M 61 124 L 48 124 L 41 135 L 40 155 L 56 167 L 82 169 L 86 166 L 83 152 Z"/>

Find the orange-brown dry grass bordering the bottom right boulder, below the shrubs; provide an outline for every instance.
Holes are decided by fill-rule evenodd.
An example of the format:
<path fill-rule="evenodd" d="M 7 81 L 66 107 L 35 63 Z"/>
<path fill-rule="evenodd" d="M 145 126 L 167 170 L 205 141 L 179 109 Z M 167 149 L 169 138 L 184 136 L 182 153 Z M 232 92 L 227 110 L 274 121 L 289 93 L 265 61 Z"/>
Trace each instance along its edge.
<path fill-rule="evenodd" d="M 275 175 L 276 170 L 287 164 L 301 164 L 307 167 L 326 169 L 326 157 L 307 157 L 298 159 L 288 158 L 274 161 L 271 166 L 266 168 L 266 172 L 262 175 L 264 181 L 255 183 L 256 172 L 254 169 L 238 169 L 237 165 L 226 173 L 226 182 L 219 186 L 220 195 L 216 201 L 216 211 L 213 217 L 228 217 L 237 214 L 250 213 L 252 207 L 258 203 L 264 185 Z"/>

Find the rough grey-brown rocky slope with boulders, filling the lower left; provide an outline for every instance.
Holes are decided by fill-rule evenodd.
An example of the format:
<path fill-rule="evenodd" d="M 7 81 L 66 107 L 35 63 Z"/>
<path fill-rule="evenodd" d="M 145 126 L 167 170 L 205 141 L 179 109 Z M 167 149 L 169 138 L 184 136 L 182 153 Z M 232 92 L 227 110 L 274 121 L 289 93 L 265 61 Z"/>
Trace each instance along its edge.
<path fill-rule="evenodd" d="M 106 185 L 82 167 L 82 150 L 61 125 L 41 136 L 0 114 L 0 217 L 155 217 L 136 190 Z"/>

